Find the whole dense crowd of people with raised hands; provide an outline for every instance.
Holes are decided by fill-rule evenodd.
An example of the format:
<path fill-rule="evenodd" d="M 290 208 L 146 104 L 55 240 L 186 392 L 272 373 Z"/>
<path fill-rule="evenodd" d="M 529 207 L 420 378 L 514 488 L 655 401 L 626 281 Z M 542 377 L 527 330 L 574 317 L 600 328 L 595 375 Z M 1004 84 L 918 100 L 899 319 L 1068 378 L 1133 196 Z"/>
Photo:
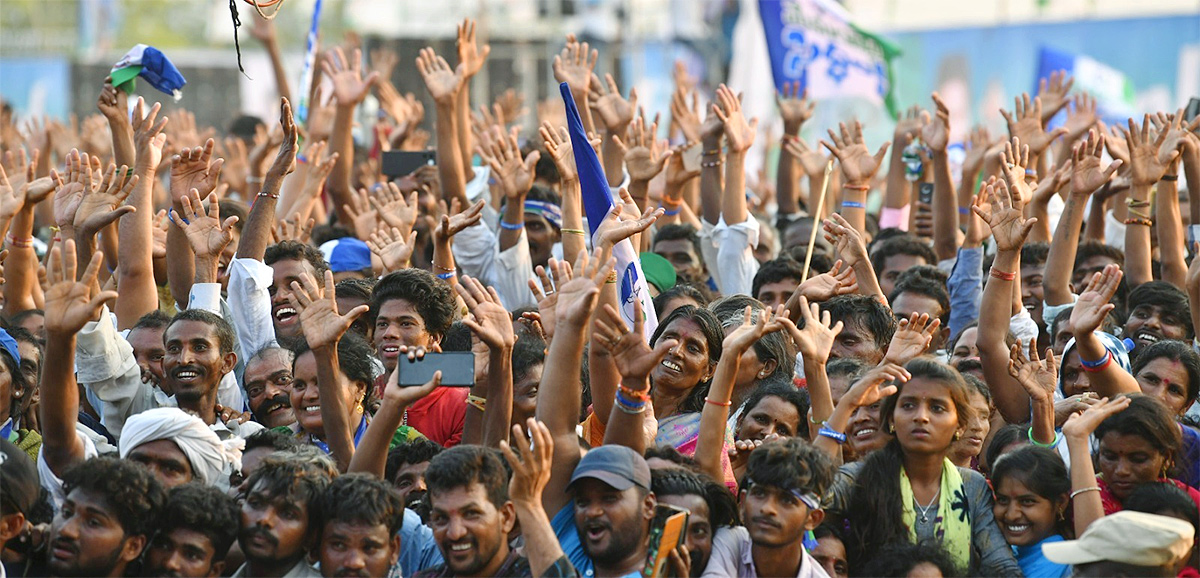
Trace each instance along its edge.
<path fill-rule="evenodd" d="M 1200 576 L 1200 119 L 1056 73 L 958 162 L 788 86 L 748 179 L 737 88 L 660 124 L 575 37 L 536 113 L 467 20 L 300 119 L 253 34 L 278 119 L 4 110 L 0 576 Z"/>

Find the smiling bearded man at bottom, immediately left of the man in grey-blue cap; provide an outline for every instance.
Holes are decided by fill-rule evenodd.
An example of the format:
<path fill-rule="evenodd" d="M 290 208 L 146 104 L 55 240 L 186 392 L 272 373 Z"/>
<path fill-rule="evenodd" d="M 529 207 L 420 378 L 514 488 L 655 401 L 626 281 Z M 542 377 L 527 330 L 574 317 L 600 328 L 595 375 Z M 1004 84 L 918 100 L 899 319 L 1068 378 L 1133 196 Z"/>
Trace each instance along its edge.
<path fill-rule="evenodd" d="M 428 525 L 445 564 L 418 577 L 532 576 L 529 561 L 509 548 L 516 507 L 494 450 L 468 445 L 438 453 L 425 470 L 425 483 Z"/>

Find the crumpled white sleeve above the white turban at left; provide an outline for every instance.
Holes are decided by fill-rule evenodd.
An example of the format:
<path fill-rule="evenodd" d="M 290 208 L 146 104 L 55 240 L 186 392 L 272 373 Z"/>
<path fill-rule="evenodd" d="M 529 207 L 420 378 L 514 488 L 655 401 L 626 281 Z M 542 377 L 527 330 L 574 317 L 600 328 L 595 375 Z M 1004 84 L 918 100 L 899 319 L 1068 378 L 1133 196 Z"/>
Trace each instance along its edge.
<path fill-rule="evenodd" d="M 152 387 L 142 383 L 133 348 L 109 319 L 108 306 L 98 321 L 89 321 L 76 336 L 76 380 L 100 398 L 100 422 L 118 439 L 125 420 L 157 407 Z"/>

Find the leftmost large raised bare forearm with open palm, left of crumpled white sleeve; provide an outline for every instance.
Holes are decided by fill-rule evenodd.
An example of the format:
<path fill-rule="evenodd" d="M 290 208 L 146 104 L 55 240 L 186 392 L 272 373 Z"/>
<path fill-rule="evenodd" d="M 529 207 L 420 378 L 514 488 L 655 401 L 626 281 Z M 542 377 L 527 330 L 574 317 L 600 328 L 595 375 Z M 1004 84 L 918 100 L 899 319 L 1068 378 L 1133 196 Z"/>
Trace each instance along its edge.
<path fill-rule="evenodd" d="M 76 335 L 89 321 L 100 319 L 104 301 L 116 291 L 100 291 L 103 255 L 96 252 L 83 277 L 76 281 L 74 240 L 50 249 L 46 275 L 46 359 L 42 360 L 42 454 L 50 471 L 61 476 L 84 460 L 84 445 L 76 433 L 79 417 L 79 387 L 74 379 Z"/>

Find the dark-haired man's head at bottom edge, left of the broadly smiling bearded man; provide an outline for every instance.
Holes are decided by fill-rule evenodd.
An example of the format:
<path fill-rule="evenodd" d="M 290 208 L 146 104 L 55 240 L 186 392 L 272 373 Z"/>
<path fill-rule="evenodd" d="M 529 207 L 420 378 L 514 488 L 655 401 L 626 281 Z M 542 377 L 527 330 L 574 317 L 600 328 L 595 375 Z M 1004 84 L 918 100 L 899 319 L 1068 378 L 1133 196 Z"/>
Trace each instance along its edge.
<path fill-rule="evenodd" d="M 389 576 L 400 560 L 404 507 L 386 482 L 348 474 L 330 483 L 317 501 L 322 576 Z"/>

